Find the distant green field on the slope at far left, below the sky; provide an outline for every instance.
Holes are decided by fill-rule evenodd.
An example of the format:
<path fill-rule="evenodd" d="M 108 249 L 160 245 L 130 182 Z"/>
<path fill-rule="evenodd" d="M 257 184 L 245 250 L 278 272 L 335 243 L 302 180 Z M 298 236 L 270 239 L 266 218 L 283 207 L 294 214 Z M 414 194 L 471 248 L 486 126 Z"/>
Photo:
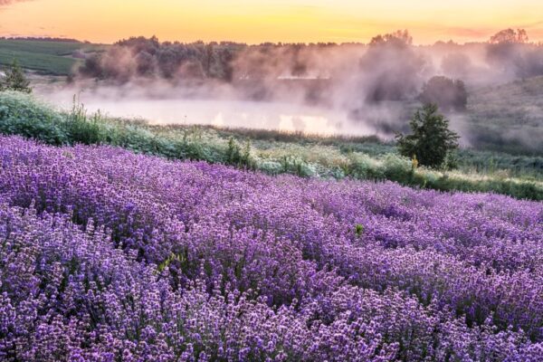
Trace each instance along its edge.
<path fill-rule="evenodd" d="M 40 42 L 25 40 L 0 40 L 0 65 L 16 59 L 24 68 L 52 75 L 68 75 L 81 59 L 73 53 L 97 52 L 101 45 L 77 42 Z"/>

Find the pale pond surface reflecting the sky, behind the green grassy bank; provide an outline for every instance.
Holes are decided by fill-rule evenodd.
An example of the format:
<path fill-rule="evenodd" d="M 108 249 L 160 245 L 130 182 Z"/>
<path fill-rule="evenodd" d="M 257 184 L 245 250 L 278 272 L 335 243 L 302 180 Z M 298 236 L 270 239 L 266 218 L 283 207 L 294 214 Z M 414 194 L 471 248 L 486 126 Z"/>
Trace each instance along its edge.
<path fill-rule="evenodd" d="M 63 108 L 71 106 L 71 97 L 66 93 L 43 93 L 42 97 Z M 154 125 L 200 124 L 322 135 L 376 134 L 376 130 L 365 122 L 349 119 L 347 110 L 300 104 L 250 100 L 107 99 L 84 93 L 80 97 L 85 108 L 91 112 L 100 110 L 112 117 L 147 119 Z"/>

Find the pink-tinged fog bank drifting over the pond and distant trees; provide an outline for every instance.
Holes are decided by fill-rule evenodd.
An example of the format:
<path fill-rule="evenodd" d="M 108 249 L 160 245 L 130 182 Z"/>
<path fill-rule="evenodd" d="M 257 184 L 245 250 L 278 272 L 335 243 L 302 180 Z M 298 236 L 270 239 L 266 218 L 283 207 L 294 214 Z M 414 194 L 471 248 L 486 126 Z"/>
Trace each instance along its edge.
<path fill-rule="evenodd" d="M 91 111 L 157 125 L 386 139 L 408 128 L 422 101 L 445 102 L 441 110 L 464 146 L 496 139 L 534 148 L 537 119 L 543 116 L 537 104 L 529 107 L 530 114 L 536 113 L 529 124 L 535 126 L 519 129 L 515 123 L 524 121 L 526 107 L 511 104 L 516 109 L 510 119 L 493 125 L 495 119 L 481 123 L 492 114 L 486 110 L 491 102 L 472 99 L 481 89 L 538 75 L 543 75 L 543 46 L 528 43 L 521 30 L 497 33 L 488 43 L 432 46 L 414 46 L 406 31 L 377 35 L 369 44 L 248 46 L 140 37 L 93 55 L 69 84 L 45 84 L 36 92 L 64 108 L 76 94 Z M 516 96 L 504 94 L 498 103 L 507 105 L 510 95 Z M 479 124 L 473 125 L 473 117 Z"/>

